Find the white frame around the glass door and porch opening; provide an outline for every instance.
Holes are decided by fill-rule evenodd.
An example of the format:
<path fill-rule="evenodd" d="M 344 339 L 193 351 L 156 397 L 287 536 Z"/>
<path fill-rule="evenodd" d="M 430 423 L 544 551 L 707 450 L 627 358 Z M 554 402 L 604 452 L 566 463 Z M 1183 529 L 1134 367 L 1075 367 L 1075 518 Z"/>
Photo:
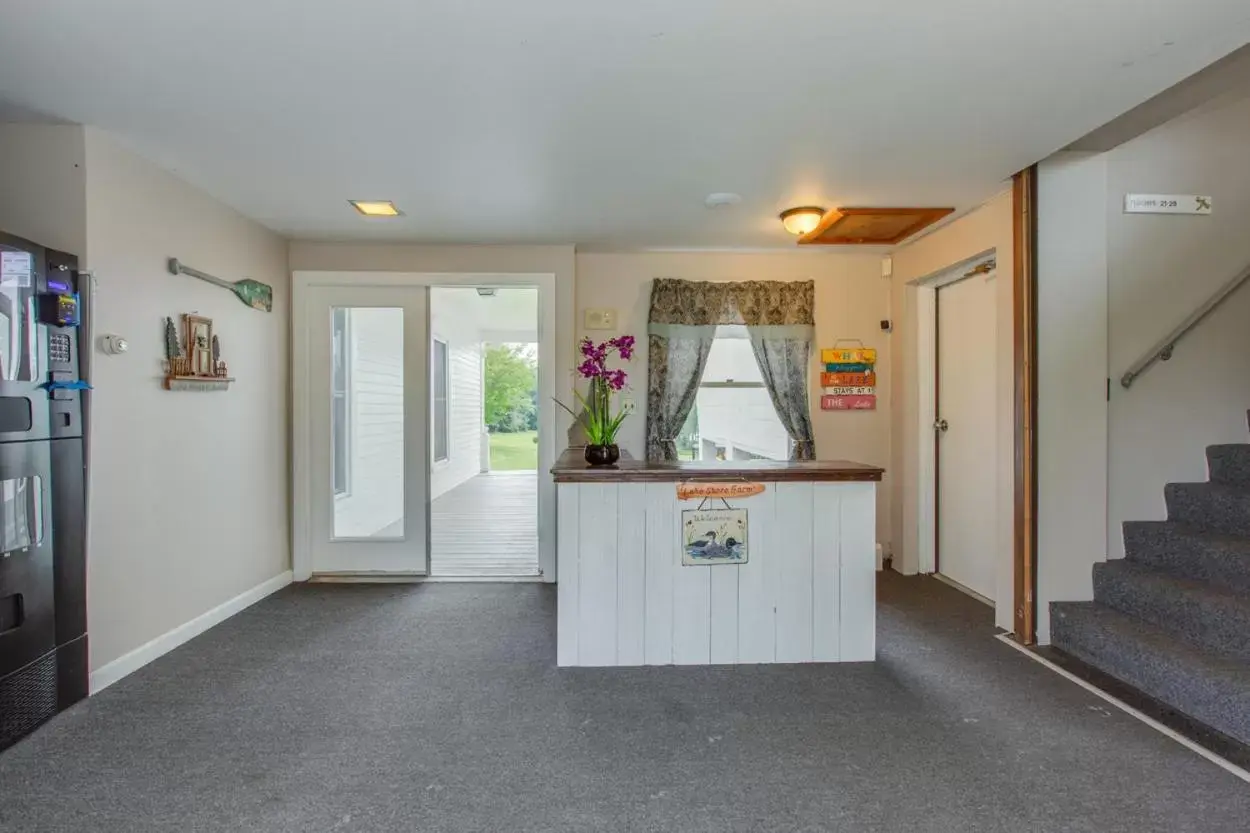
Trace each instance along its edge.
<path fill-rule="evenodd" d="M 555 483 L 548 472 L 564 450 L 556 442 L 555 376 L 559 366 L 556 353 L 556 280 L 554 273 L 398 273 L 398 271 L 309 271 L 291 274 L 291 401 L 304 401 L 291 414 L 291 567 L 296 582 L 312 575 L 311 472 L 308 460 L 311 448 L 309 333 L 309 286 L 536 286 L 539 290 L 539 569 L 544 582 L 555 582 Z M 429 363 L 426 363 L 428 365 Z M 429 366 L 425 376 L 429 380 Z M 426 467 L 429 468 L 429 467 Z"/>

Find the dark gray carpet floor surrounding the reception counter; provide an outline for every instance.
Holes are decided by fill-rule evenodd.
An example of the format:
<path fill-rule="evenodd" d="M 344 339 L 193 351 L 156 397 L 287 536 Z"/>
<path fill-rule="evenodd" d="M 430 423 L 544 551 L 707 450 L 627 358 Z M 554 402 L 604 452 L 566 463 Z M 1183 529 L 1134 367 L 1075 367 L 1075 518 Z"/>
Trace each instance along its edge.
<path fill-rule="evenodd" d="M 876 663 L 558 670 L 550 587 L 291 587 L 0 754 L 0 829 L 1250 829 L 988 608 L 879 595 Z"/>

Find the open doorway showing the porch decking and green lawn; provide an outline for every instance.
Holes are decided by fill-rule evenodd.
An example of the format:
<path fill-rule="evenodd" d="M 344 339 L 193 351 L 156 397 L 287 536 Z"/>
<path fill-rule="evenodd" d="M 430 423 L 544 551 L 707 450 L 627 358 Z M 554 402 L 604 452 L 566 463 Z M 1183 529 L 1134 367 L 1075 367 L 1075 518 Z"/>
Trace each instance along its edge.
<path fill-rule="evenodd" d="M 430 289 L 430 575 L 539 579 L 539 290 Z"/>

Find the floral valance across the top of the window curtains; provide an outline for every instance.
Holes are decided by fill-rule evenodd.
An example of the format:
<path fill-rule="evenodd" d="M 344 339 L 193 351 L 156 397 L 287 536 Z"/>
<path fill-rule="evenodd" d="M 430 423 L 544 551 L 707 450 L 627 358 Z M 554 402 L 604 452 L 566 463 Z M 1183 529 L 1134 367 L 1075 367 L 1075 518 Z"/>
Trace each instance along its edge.
<path fill-rule="evenodd" d="M 815 324 L 815 295 L 810 280 L 715 283 L 656 278 L 648 323 L 656 335 L 668 335 L 674 328 L 745 324 L 796 328 L 794 335 L 801 338 Z"/>

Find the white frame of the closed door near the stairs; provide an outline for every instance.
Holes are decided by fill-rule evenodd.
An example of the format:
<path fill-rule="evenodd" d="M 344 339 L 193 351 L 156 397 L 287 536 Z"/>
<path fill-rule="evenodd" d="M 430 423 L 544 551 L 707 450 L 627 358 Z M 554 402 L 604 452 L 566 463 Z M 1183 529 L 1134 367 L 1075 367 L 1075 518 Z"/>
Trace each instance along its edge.
<path fill-rule="evenodd" d="M 912 348 L 916 359 L 916 413 L 908 427 L 915 443 L 918 462 L 916 495 L 916 572 L 929 574 L 938 569 L 938 435 L 934 419 L 938 414 L 938 289 L 964 280 L 979 264 L 995 259 L 995 250 L 961 260 L 936 273 L 909 281 L 915 315 Z M 992 276 L 989 273 L 986 279 Z"/>

